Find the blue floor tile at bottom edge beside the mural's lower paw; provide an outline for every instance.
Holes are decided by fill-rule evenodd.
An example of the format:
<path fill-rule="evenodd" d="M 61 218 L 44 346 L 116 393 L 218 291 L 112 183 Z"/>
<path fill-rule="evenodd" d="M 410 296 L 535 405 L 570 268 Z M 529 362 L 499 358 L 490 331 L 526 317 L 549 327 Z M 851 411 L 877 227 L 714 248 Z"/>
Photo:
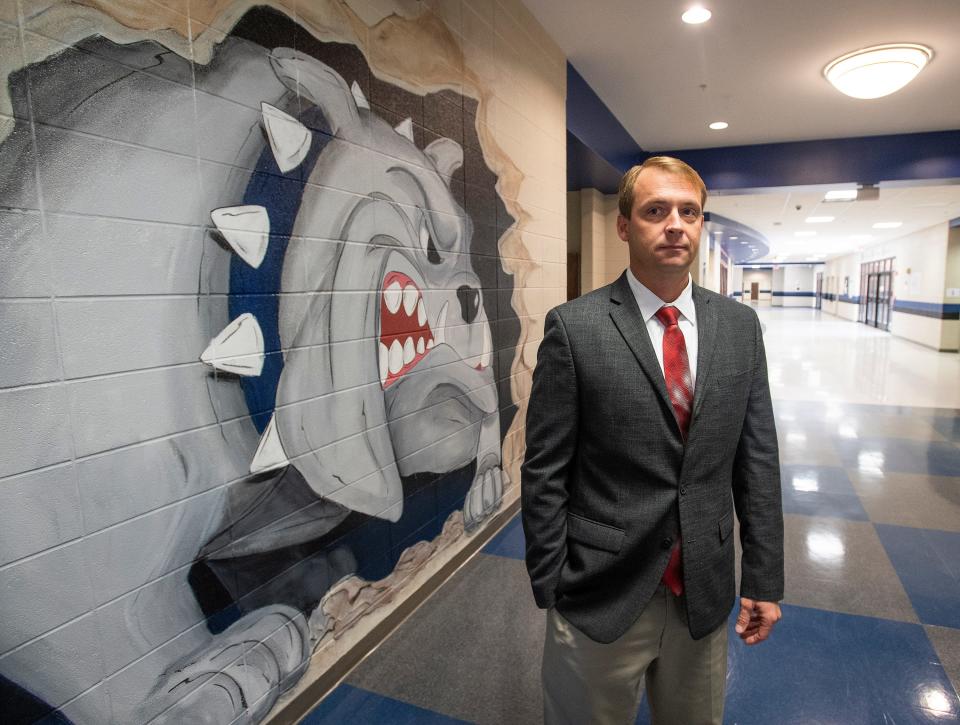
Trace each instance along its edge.
<path fill-rule="evenodd" d="M 340 685 L 300 722 L 302 725 L 455 725 L 465 721 L 361 690 L 359 687 Z"/>

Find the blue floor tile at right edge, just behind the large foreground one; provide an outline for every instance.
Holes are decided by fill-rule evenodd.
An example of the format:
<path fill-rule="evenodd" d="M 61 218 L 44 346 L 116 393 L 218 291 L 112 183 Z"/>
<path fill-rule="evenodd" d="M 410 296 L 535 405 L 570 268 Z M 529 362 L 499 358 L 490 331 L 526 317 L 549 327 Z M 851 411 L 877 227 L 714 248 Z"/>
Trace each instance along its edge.
<path fill-rule="evenodd" d="M 960 534 L 875 527 L 920 621 L 960 628 Z"/>

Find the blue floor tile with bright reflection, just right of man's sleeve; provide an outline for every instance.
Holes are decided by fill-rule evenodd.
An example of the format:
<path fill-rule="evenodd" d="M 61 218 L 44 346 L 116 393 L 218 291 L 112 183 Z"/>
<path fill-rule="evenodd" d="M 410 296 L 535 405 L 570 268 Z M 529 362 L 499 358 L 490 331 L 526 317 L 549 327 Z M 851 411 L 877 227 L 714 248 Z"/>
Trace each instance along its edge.
<path fill-rule="evenodd" d="M 867 521 L 867 512 L 844 469 L 836 466 L 780 467 L 783 511 L 804 516 Z"/>

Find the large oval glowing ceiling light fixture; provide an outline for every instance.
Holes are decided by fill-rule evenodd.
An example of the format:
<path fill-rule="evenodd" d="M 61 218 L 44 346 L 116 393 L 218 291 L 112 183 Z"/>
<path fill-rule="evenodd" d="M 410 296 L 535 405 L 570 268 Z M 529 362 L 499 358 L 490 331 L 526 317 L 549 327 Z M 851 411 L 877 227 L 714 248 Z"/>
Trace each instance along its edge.
<path fill-rule="evenodd" d="M 916 43 L 891 43 L 855 50 L 830 61 L 824 77 L 853 98 L 882 98 L 916 78 L 933 58 L 933 50 Z"/>

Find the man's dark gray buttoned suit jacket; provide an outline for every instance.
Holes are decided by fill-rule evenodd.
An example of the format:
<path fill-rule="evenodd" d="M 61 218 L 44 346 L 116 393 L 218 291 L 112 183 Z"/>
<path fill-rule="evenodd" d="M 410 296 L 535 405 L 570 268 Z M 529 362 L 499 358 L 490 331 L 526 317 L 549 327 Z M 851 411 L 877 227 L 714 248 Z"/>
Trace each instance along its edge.
<path fill-rule="evenodd" d="M 682 533 L 690 633 L 741 596 L 783 597 L 780 467 L 756 313 L 694 286 L 697 379 L 684 446 L 626 273 L 547 314 L 522 468 L 537 605 L 612 642 L 650 601 Z"/>

